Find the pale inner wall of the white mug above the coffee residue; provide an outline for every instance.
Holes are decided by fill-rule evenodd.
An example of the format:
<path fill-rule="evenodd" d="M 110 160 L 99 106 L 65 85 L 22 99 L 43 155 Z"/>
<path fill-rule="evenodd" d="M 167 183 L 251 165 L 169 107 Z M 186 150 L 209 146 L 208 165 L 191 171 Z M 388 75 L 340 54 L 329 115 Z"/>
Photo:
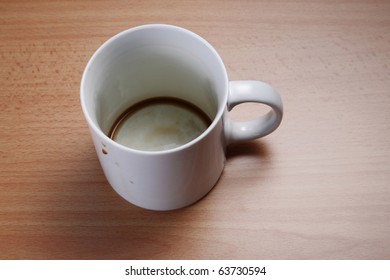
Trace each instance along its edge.
<path fill-rule="evenodd" d="M 212 127 L 225 110 L 227 84 L 222 60 L 204 39 L 175 26 L 145 25 L 95 52 L 83 74 L 81 103 L 89 124 L 105 135 L 123 111 L 154 97 L 191 102 Z"/>

